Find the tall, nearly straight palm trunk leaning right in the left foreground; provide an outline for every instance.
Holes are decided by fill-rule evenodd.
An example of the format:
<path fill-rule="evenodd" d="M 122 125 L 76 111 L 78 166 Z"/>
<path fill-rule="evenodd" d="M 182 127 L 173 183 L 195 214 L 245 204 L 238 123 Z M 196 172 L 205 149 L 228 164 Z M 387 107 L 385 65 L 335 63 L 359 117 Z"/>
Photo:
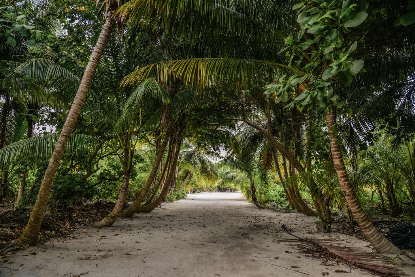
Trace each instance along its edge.
<path fill-rule="evenodd" d="M 56 143 L 56 147 L 49 161 L 48 167 L 45 172 L 42 184 L 37 195 L 36 203 L 30 214 L 29 222 L 24 229 L 22 235 L 19 238 L 19 243 L 28 243 L 29 245 L 37 244 L 39 238 L 40 225 L 46 210 L 46 205 L 49 198 L 52 183 L 58 169 L 59 163 L 63 156 L 63 151 L 68 143 L 69 136 L 72 133 L 73 127 L 75 127 L 76 119 L 81 111 L 83 101 L 85 100 L 88 89 L 91 85 L 92 78 L 97 69 L 98 63 L 104 52 L 105 45 L 110 38 L 112 29 L 115 26 L 114 12 L 109 11 L 103 29 L 101 30 L 100 36 L 97 43 L 95 44 L 94 50 L 92 51 L 88 65 L 86 66 L 85 73 L 82 76 L 81 84 L 76 92 L 76 96 L 73 99 L 71 110 L 69 110 L 68 117 L 66 118 L 65 124 L 63 125 L 61 135 Z"/>

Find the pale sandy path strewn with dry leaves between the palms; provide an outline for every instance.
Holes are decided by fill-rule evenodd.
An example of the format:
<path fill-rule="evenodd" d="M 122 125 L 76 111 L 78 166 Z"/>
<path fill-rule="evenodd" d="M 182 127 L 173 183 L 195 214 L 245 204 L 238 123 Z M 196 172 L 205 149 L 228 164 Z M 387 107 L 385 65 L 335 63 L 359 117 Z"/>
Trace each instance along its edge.
<path fill-rule="evenodd" d="M 337 273 L 336 269 L 349 267 L 321 265 L 276 242 L 290 237 L 281 229 L 284 223 L 297 235 L 321 237 L 315 232 L 316 220 L 299 213 L 259 210 L 238 192 L 192 194 L 163 203 L 152 213 L 120 219 L 110 228 L 85 227 L 71 234 L 72 239 L 28 248 L 10 258 L 13 264 L 3 264 L 18 270 L 0 268 L 0 276 L 321 277 L 322 272 L 329 272 L 329 277 L 371 276 L 359 269 L 351 275 Z M 367 245 L 354 237 L 330 235 Z M 414 267 L 401 268 L 409 275 L 415 272 Z"/>

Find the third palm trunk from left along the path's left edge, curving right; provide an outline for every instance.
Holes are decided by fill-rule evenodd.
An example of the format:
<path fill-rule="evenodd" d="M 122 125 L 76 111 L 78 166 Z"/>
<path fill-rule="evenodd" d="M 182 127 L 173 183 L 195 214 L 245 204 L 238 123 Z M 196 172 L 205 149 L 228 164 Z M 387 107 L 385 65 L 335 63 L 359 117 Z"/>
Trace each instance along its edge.
<path fill-rule="evenodd" d="M 144 197 L 146 196 L 147 192 L 150 189 L 151 183 L 153 183 L 153 180 L 156 177 L 157 170 L 159 169 L 159 165 L 161 162 L 161 158 L 163 157 L 164 150 L 166 149 L 167 142 L 170 138 L 171 130 L 172 130 L 172 127 L 169 126 L 167 128 L 166 135 L 164 136 L 163 142 L 161 143 L 159 152 L 157 153 L 156 160 L 154 161 L 153 168 L 151 169 L 149 178 L 147 179 L 146 184 L 144 185 L 142 191 L 140 192 L 139 196 L 137 196 L 137 198 L 134 200 L 134 202 L 131 203 L 130 206 L 125 208 L 124 211 L 120 213 L 120 216 L 131 217 L 134 214 L 134 212 L 137 210 L 137 208 L 141 205 L 141 202 L 143 201 Z"/>

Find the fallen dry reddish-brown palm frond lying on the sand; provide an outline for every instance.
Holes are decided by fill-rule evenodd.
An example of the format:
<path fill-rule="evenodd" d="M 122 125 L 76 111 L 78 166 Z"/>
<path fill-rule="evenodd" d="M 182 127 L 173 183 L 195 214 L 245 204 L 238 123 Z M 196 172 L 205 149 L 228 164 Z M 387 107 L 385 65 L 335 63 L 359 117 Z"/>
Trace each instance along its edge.
<path fill-rule="evenodd" d="M 374 259 L 376 259 L 374 252 L 350 247 L 349 245 L 339 243 L 338 239 L 300 238 L 291 233 L 285 224 L 282 228 L 288 234 L 295 237 L 295 239 L 282 239 L 278 241 L 295 243 L 293 245 L 298 247 L 300 252 L 305 253 L 307 257 L 322 259 L 325 262 L 332 261 L 333 263 L 346 264 L 349 265 L 350 270 L 352 270 L 352 266 L 358 267 L 385 277 L 406 275 L 396 267 L 374 262 Z"/>

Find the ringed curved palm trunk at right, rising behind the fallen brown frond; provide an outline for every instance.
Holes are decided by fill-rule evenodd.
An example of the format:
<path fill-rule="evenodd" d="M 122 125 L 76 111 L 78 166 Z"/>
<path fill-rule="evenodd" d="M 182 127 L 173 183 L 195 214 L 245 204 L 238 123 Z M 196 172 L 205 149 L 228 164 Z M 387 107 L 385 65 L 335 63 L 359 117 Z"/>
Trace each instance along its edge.
<path fill-rule="evenodd" d="M 330 107 L 331 108 L 331 107 Z M 336 113 L 335 110 L 327 111 L 326 115 L 327 127 L 329 129 L 330 136 L 330 148 L 333 156 L 334 167 L 339 178 L 339 183 L 349 205 L 350 211 L 352 211 L 354 218 L 362 229 L 363 234 L 367 240 L 373 245 L 373 247 L 380 253 L 394 253 L 399 254 L 402 252 L 399 248 L 393 245 L 376 229 L 372 222 L 363 211 L 359 199 L 353 191 L 353 187 L 350 184 L 349 176 L 347 176 L 346 167 L 344 165 L 342 152 L 340 146 L 337 145 L 337 131 L 334 131 L 336 125 Z"/>

